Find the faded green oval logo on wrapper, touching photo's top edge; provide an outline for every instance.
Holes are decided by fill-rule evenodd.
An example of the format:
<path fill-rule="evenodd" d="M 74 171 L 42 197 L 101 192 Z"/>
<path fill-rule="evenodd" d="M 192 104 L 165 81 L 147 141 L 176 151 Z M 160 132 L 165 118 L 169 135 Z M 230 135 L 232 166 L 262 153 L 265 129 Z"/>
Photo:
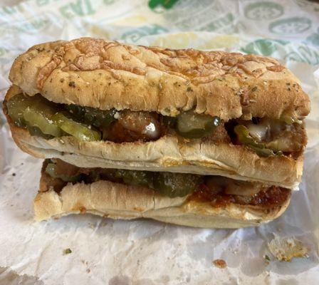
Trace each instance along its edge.
<path fill-rule="evenodd" d="M 258 1 L 244 9 L 246 18 L 256 21 L 276 19 L 283 14 L 283 6 L 275 2 Z"/>

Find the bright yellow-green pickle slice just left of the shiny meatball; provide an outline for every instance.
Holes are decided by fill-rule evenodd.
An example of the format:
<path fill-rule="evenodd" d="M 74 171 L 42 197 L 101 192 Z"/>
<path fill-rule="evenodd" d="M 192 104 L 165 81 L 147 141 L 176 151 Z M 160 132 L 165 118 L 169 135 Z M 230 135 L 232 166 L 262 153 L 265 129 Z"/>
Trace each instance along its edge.
<path fill-rule="evenodd" d="M 56 115 L 53 115 L 52 120 L 61 128 L 61 130 L 78 140 L 94 141 L 101 139 L 100 132 L 67 118 L 63 113 L 56 113 Z"/>

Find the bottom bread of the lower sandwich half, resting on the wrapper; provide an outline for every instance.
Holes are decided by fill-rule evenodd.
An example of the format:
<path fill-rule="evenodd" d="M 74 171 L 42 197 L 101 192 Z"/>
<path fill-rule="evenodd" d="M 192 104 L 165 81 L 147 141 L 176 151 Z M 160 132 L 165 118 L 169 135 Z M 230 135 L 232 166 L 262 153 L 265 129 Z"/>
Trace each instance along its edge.
<path fill-rule="evenodd" d="M 47 180 L 48 175 L 42 171 L 42 192 L 34 199 L 38 221 L 87 212 L 113 219 L 151 218 L 189 227 L 252 227 L 276 219 L 290 202 L 289 196 L 284 204 L 272 209 L 240 204 L 212 207 L 209 203 L 189 201 L 187 197 L 163 197 L 145 187 L 105 180 L 90 185 L 69 183 L 58 194 L 46 187 Z"/>

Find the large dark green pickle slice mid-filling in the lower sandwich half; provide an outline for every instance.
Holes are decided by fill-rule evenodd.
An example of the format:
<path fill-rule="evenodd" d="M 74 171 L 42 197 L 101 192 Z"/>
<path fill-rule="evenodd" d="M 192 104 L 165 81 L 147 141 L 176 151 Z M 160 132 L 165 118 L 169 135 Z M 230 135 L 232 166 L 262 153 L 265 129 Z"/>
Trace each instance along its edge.
<path fill-rule="evenodd" d="M 172 172 L 155 172 L 154 189 L 171 198 L 184 197 L 194 192 L 202 182 L 200 175 Z"/>

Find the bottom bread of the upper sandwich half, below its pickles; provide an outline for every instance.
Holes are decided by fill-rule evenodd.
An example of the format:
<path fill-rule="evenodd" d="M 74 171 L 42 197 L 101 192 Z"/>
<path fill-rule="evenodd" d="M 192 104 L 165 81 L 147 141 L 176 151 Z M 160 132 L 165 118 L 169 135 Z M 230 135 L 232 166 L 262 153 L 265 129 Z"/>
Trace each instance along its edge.
<path fill-rule="evenodd" d="M 12 86 L 5 101 L 18 92 L 19 88 Z M 289 189 L 298 187 L 303 172 L 302 153 L 296 160 L 287 156 L 259 157 L 242 145 L 180 140 L 172 135 L 152 142 L 81 142 L 70 136 L 45 140 L 16 127 L 7 114 L 6 118 L 21 150 L 35 157 L 60 158 L 78 167 L 221 175 Z"/>

